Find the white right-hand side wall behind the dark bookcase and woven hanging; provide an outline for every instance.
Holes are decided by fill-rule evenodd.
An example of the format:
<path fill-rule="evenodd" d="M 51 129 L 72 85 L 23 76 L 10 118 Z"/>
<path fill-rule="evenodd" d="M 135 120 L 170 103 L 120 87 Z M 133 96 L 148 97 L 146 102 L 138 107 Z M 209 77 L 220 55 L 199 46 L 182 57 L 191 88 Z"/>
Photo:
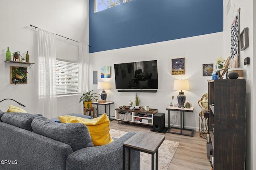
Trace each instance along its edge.
<path fill-rule="evenodd" d="M 239 53 L 239 67 L 244 68 L 244 78 L 246 79 L 246 169 L 253 170 L 256 167 L 256 136 L 255 136 L 255 128 L 256 128 L 256 116 L 255 116 L 255 66 L 254 63 L 254 53 L 256 44 L 254 43 L 256 40 L 255 34 L 255 20 L 256 20 L 256 12 L 255 7 L 256 4 L 254 0 L 231 0 L 231 8 L 227 10 L 228 0 L 223 1 L 224 7 L 224 25 L 223 25 L 223 39 L 224 39 L 224 56 L 230 56 L 230 47 L 231 47 L 231 28 L 232 20 L 236 15 L 236 10 L 240 7 L 240 22 L 239 22 L 239 32 L 248 27 L 249 34 L 249 47 L 244 51 L 240 51 Z M 254 10 L 253 10 L 254 8 Z M 253 12 L 254 11 L 254 12 Z M 254 16 L 254 17 L 253 17 Z M 240 49 L 240 45 L 239 45 Z M 250 57 L 250 65 L 244 65 L 244 58 Z"/>

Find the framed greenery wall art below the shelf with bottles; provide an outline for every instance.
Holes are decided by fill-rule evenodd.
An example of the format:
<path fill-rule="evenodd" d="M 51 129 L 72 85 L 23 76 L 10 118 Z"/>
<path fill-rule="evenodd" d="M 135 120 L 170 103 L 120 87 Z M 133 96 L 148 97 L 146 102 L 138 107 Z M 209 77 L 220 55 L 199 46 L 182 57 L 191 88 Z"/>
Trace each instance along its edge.
<path fill-rule="evenodd" d="M 28 67 L 11 66 L 11 84 L 28 83 Z"/>

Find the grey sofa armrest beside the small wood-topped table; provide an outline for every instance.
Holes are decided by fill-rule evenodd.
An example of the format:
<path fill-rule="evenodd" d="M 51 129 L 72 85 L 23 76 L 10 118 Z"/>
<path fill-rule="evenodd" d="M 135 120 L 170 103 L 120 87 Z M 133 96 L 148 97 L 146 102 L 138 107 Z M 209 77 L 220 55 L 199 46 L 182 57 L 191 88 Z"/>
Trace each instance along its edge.
<path fill-rule="evenodd" d="M 66 160 L 66 170 L 122 170 L 123 142 L 133 136 L 135 132 L 128 132 L 110 144 L 82 148 L 70 154 Z M 127 148 L 126 148 L 127 149 Z M 131 150 L 132 170 L 140 169 L 140 152 Z M 126 150 L 126 169 L 128 167 L 128 149 Z"/>

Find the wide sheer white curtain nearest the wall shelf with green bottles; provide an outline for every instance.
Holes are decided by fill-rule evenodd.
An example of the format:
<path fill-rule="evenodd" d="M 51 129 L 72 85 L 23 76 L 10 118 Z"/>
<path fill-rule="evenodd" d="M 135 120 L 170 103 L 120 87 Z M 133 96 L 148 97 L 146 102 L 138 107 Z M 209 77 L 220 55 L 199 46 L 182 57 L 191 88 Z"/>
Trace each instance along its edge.
<path fill-rule="evenodd" d="M 57 117 L 56 34 L 38 28 L 38 113 Z"/>

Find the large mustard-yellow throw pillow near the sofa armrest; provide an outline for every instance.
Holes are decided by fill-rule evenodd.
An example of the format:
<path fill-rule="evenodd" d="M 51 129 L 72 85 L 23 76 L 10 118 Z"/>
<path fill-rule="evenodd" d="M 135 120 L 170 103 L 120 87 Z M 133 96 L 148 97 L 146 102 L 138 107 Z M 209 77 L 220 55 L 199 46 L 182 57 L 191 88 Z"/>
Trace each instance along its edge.
<path fill-rule="evenodd" d="M 60 123 L 82 123 L 87 126 L 94 146 L 101 146 L 113 142 L 110 136 L 109 119 L 106 113 L 94 119 L 84 119 L 75 116 L 58 116 Z"/>

